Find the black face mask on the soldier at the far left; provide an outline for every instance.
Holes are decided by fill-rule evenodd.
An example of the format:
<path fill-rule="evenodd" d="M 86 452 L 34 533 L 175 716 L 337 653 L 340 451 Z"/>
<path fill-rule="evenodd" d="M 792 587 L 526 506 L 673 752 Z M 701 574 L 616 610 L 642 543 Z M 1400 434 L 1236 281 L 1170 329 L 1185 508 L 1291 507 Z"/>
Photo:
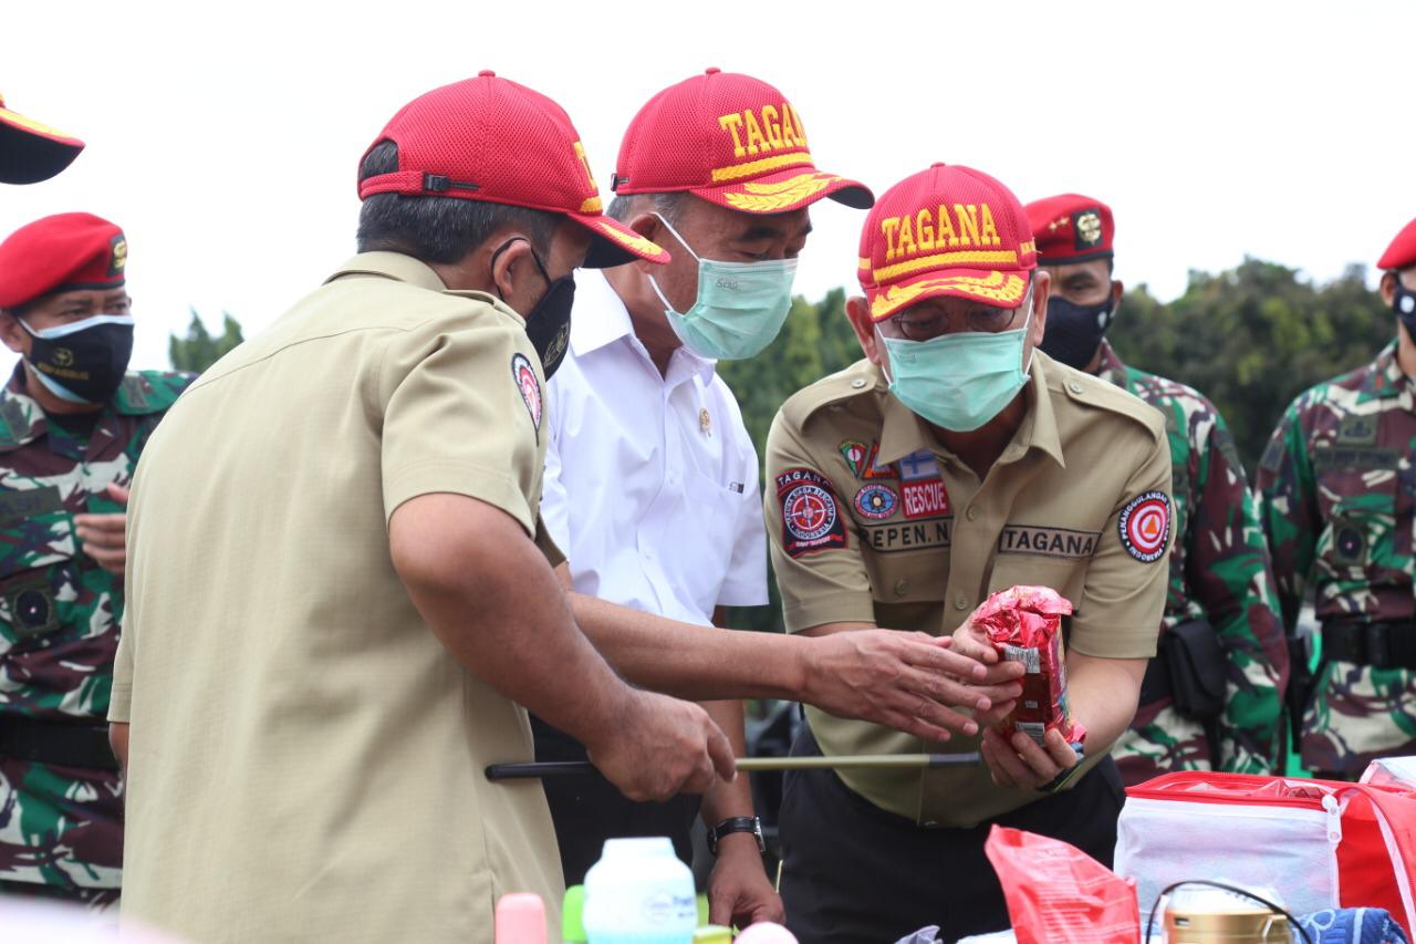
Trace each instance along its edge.
<path fill-rule="evenodd" d="M 16 319 L 20 320 L 20 319 Z M 133 356 L 133 319 L 127 315 L 96 315 L 82 322 L 33 332 L 25 360 L 40 383 L 68 403 L 106 403 L 127 371 Z"/>

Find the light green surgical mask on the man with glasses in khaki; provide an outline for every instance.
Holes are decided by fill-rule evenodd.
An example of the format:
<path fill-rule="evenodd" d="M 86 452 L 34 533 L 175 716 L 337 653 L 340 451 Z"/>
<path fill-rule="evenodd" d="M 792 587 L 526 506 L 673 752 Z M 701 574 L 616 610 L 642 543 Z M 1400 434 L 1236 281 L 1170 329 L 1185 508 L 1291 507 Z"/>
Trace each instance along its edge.
<path fill-rule="evenodd" d="M 1032 286 L 1024 299 L 1022 327 L 1008 332 L 959 332 L 926 342 L 878 337 L 889 354 L 889 391 L 929 422 L 971 432 L 1012 403 L 1028 383 L 1024 342 L 1032 325 Z"/>

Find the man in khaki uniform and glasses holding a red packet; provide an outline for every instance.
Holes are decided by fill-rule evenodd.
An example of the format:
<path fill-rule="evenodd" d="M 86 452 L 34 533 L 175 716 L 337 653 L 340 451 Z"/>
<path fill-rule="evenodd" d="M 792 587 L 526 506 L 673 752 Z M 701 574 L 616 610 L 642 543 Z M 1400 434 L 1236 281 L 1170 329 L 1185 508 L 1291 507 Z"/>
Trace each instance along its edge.
<path fill-rule="evenodd" d="M 1134 714 L 1165 602 L 1164 422 L 1035 349 L 1049 282 L 1012 193 L 935 164 L 877 201 L 861 257 L 868 300 L 848 312 L 865 360 L 787 400 L 767 441 L 787 629 L 953 634 L 988 661 L 974 608 L 1015 584 L 1051 587 L 1076 608 L 1066 670 L 1087 734 L 1080 755 L 1056 731 L 939 744 L 807 709 L 797 754 L 983 761 L 789 775 L 782 896 L 803 944 L 1007 927 L 983 855 L 995 822 L 1110 862 L 1123 794 L 1107 748 Z M 995 696 L 1018 670 L 994 668 Z"/>

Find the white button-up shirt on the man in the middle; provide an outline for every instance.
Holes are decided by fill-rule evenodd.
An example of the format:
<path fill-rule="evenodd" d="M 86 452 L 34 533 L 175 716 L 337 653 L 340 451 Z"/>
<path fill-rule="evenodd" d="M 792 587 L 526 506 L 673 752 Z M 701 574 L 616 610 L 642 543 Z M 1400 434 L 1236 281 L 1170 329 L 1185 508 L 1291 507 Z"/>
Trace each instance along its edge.
<path fill-rule="evenodd" d="M 680 347 L 661 376 L 586 271 L 547 398 L 541 516 L 575 590 L 701 625 L 767 602 L 758 452 L 714 361 Z"/>

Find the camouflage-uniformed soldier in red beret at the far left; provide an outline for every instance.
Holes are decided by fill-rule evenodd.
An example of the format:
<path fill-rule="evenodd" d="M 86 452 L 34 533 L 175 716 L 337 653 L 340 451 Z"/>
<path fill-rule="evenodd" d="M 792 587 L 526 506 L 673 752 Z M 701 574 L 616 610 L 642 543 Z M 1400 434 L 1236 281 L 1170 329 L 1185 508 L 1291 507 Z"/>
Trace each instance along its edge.
<path fill-rule="evenodd" d="M 0 893 L 108 904 L 123 819 L 106 724 L 123 505 L 188 383 L 126 373 L 122 231 L 47 217 L 0 244 Z"/>

